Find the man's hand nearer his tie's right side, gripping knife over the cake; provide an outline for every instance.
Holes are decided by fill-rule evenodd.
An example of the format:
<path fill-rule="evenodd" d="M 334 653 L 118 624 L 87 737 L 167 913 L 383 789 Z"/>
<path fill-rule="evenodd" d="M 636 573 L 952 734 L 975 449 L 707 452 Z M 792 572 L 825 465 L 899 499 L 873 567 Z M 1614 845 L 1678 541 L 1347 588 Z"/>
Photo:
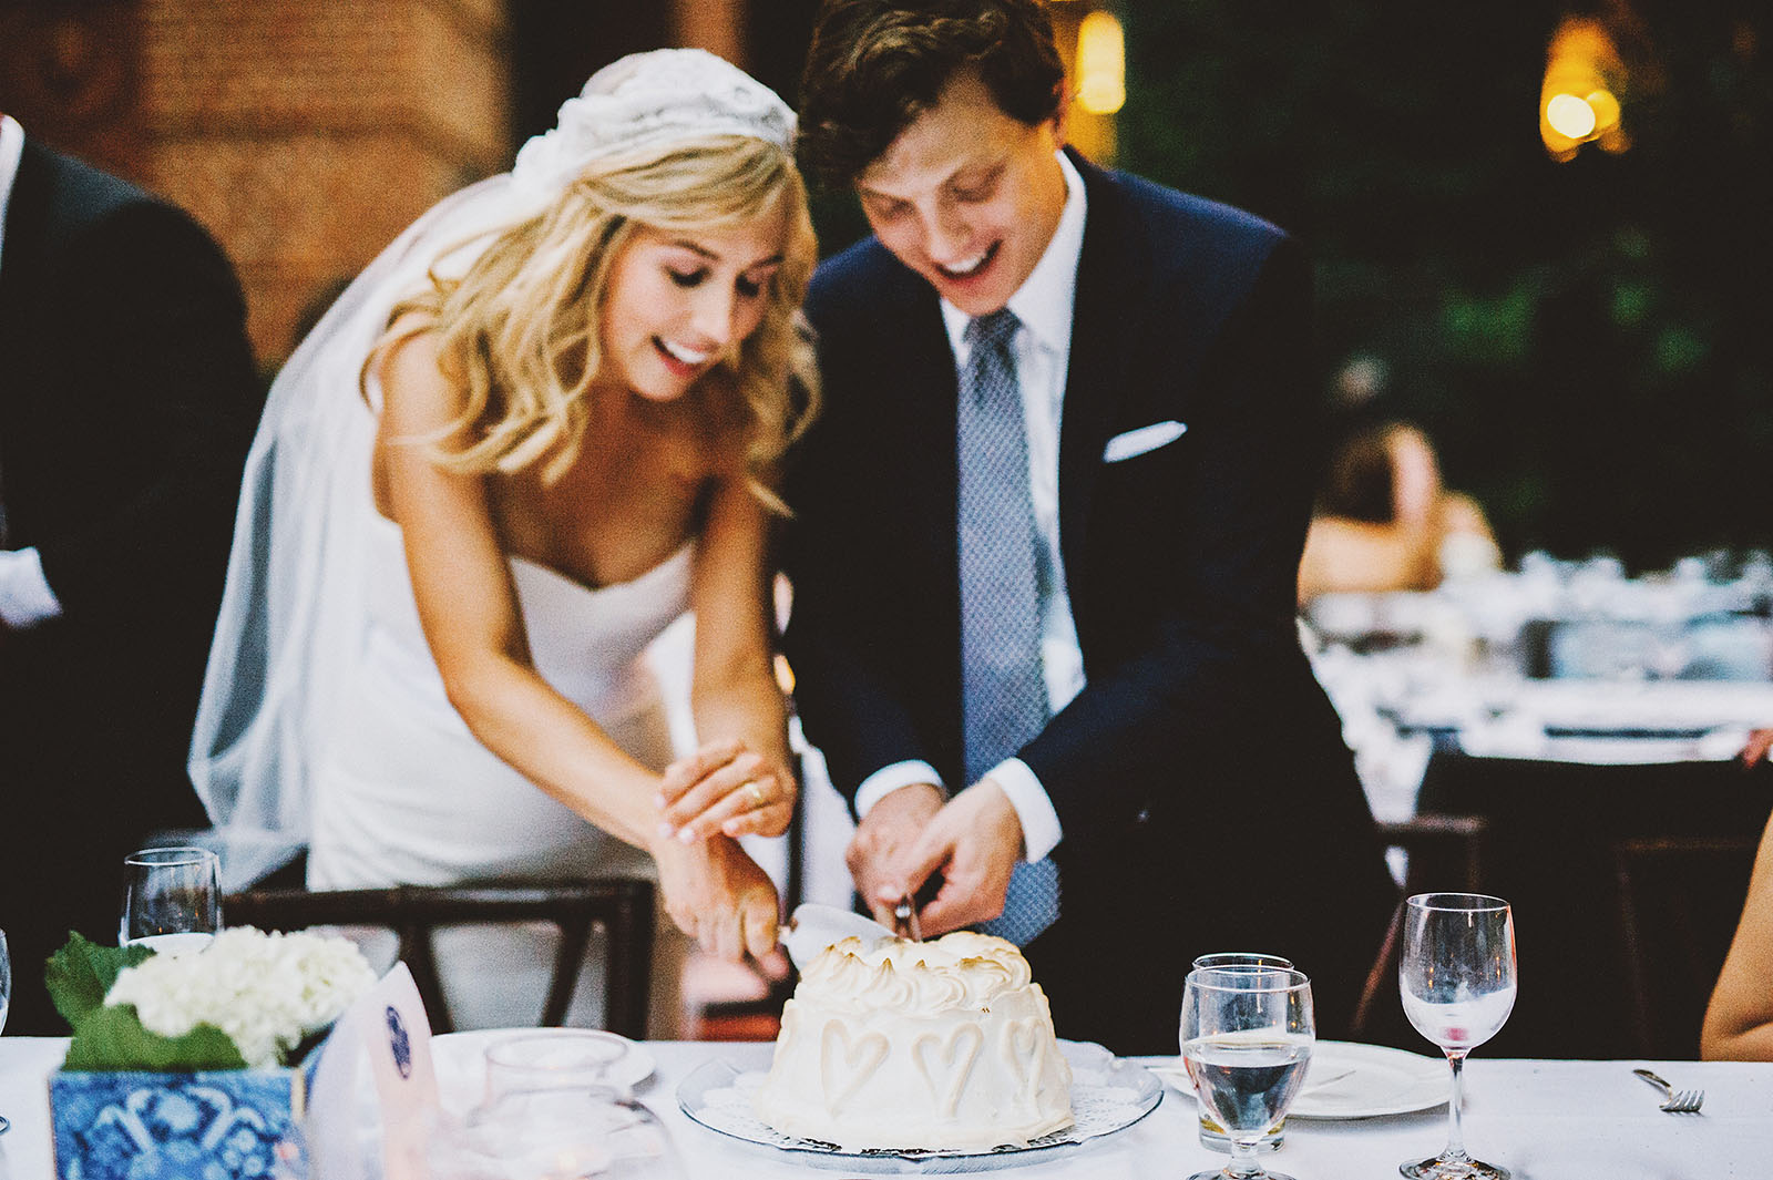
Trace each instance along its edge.
<path fill-rule="evenodd" d="M 984 778 L 954 796 L 895 865 L 879 897 L 917 893 L 933 872 L 941 888 L 918 912 L 924 937 L 959 930 L 1004 912 L 1009 875 L 1021 859 L 1021 820 L 1009 796 Z M 874 907 L 879 909 L 879 904 Z M 892 904 L 886 905 L 888 916 Z M 890 923 L 888 923 L 890 925 Z"/>

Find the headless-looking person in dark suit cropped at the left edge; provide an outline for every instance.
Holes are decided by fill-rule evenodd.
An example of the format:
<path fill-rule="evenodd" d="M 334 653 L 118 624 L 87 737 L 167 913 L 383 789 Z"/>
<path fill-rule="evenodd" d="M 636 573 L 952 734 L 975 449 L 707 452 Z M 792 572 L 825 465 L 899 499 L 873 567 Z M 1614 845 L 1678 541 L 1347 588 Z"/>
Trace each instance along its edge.
<path fill-rule="evenodd" d="M 0 115 L 0 928 L 9 1033 L 43 962 L 112 941 L 121 861 L 200 824 L 184 772 L 259 404 L 227 257 Z"/>

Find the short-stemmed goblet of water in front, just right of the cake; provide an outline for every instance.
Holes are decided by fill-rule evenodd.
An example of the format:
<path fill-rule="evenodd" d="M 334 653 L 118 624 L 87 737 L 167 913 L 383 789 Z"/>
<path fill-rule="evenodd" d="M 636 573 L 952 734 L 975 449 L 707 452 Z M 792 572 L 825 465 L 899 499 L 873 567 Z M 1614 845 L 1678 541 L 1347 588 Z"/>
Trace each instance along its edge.
<path fill-rule="evenodd" d="M 1291 1180 L 1257 1145 L 1305 1083 L 1316 1026 L 1312 983 L 1291 967 L 1197 967 L 1183 987 L 1183 1065 L 1200 1106 L 1230 1137 L 1230 1162 L 1191 1180 Z"/>

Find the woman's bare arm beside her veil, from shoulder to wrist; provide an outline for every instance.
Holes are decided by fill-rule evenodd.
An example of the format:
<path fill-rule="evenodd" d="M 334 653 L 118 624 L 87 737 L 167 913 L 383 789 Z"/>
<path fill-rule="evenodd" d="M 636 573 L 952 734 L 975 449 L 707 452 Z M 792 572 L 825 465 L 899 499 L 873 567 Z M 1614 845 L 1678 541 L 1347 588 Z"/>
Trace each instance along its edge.
<path fill-rule="evenodd" d="M 379 376 L 385 503 L 404 535 L 418 620 L 450 703 L 532 783 L 651 850 L 660 778 L 535 672 L 484 478 L 438 468 L 413 441 L 434 436 L 461 404 L 438 370 L 434 337 L 408 337 Z"/>

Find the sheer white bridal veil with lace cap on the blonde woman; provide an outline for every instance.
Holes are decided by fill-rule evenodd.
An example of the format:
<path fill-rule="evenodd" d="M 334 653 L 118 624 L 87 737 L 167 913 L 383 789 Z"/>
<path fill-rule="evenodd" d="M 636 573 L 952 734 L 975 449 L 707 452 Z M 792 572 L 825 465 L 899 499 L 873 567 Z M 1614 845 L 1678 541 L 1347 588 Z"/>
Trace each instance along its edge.
<path fill-rule="evenodd" d="M 376 418 L 360 372 L 388 312 L 433 268 L 461 273 L 587 163 L 707 135 L 789 147 L 794 115 L 700 50 L 637 53 L 598 71 L 511 172 L 447 197 L 383 250 L 278 372 L 246 455 L 190 751 L 191 783 L 220 829 L 211 840 L 232 854 L 223 858 L 232 881 L 307 842 L 309 772 L 363 641 Z"/>

